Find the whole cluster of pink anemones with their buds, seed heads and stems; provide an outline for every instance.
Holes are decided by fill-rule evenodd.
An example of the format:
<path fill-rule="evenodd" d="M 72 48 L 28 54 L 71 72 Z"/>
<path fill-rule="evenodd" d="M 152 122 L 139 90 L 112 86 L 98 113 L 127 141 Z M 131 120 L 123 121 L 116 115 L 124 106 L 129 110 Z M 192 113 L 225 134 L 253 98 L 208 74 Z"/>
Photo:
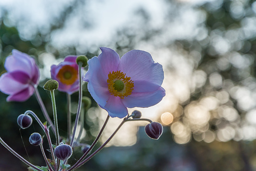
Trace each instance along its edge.
<path fill-rule="evenodd" d="M 0 91 L 9 95 L 7 101 L 26 101 L 35 94 L 38 104 L 45 116 L 47 122 L 42 123 L 37 115 L 32 111 L 26 111 L 17 118 L 17 124 L 22 129 L 27 129 L 32 124 L 32 117 L 38 122 L 45 135 L 32 133 L 29 142 L 34 146 L 40 146 L 42 156 L 47 166 L 35 166 L 23 157 L 19 156 L 11 147 L 9 147 L 0 137 L 2 143 L 12 154 L 26 163 L 32 170 L 74 170 L 92 157 L 94 157 L 116 134 L 120 127 L 127 121 L 148 121 L 150 124 L 145 126 L 145 133 L 152 139 L 158 139 L 163 132 L 163 127 L 158 122 L 153 122 L 147 118 L 141 118 L 140 111 L 134 111 L 131 115 L 127 108 L 149 106 L 159 103 L 165 96 L 165 90 L 161 87 L 164 74 L 162 66 L 155 63 L 152 56 L 140 50 L 132 50 L 124 54 L 121 58 L 110 48 L 100 48 L 101 54 L 90 60 L 86 56 L 69 55 L 58 65 L 51 66 L 51 80 L 45 83 L 44 89 L 50 91 L 52 99 L 54 123 L 50 119 L 48 112 L 37 91 L 39 83 L 39 69 L 35 60 L 29 55 L 12 51 L 12 55 L 6 58 L 6 73 L 0 77 Z M 89 65 L 87 73 L 84 75 L 84 67 Z M 91 99 L 82 96 L 82 83 L 88 82 L 88 90 L 93 99 L 100 108 L 108 112 L 108 116 L 96 137 L 91 144 L 80 144 L 80 134 L 82 129 L 77 130 L 78 122 L 84 122 L 84 110 L 88 110 L 91 105 Z M 68 101 L 68 136 L 60 137 L 58 133 L 57 110 L 55 104 L 54 90 L 67 93 Z M 73 133 L 71 133 L 72 120 L 70 116 L 71 95 L 79 93 L 78 107 L 74 121 Z M 31 115 L 31 116 L 30 116 Z M 92 151 L 104 127 L 110 117 L 123 118 L 113 135 L 106 140 L 94 153 Z M 47 125 L 49 124 L 49 125 Z M 80 125 L 83 127 L 83 125 Z M 52 143 L 49 129 L 55 134 L 55 143 Z M 79 131 L 78 138 L 75 134 Z M 49 144 L 51 160 L 47 159 L 43 138 L 46 136 Z M 60 138 L 62 142 L 60 142 Z M 72 156 L 73 149 L 82 146 L 83 155 L 72 166 L 68 164 L 68 159 Z M 62 162 L 60 163 L 60 161 Z"/>

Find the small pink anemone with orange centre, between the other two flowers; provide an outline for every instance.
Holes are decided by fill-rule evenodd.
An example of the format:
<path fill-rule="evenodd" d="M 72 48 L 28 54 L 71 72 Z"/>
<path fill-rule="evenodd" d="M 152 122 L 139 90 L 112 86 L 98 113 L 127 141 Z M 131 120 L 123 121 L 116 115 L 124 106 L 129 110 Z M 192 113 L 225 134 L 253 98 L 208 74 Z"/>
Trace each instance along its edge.
<path fill-rule="evenodd" d="M 66 56 L 63 62 L 57 66 L 51 66 L 51 77 L 59 83 L 58 90 L 73 94 L 79 89 L 78 65 L 76 63 L 77 56 Z M 82 77 L 83 77 L 82 72 Z"/>

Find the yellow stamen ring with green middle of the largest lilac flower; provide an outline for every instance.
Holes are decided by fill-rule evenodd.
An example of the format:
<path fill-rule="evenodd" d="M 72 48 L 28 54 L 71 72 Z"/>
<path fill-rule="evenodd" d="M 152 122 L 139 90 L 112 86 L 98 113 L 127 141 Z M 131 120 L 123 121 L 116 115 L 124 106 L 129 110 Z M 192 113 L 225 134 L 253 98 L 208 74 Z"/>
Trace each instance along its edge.
<path fill-rule="evenodd" d="M 112 71 L 109 73 L 108 90 L 110 94 L 114 96 L 119 96 L 120 98 L 127 97 L 132 94 L 134 90 L 133 80 L 131 77 L 125 76 L 121 71 Z"/>

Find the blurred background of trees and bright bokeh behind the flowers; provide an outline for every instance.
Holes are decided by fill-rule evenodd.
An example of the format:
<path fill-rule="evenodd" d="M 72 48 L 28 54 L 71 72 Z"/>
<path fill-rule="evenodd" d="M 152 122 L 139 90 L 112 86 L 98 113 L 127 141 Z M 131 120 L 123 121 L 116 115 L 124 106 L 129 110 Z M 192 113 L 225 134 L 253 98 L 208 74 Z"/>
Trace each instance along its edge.
<path fill-rule="evenodd" d="M 99 47 L 109 47 L 122 56 L 139 49 L 163 65 L 163 100 L 129 110 L 162 123 L 160 139 L 146 136 L 147 122 L 127 122 L 79 170 L 256 170 L 255 38 L 252 0 L 0 1 L 0 72 L 5 72 L 12 49 L 34 57 L 41 74 L 39 93 L 49 114 L 50 94 L 42 86 L 50 79 L 50 66 L 67 55 L 91 58 L 100 53 Z M 86 84 L 83 88 L 91 98 Z M 65 137 L 66 94 L 55 95 Z M 30 134 L 41 133 L 40 127 L 34 122 L 19 130 L 16 123 L 26 110 L 44 121 L 35 96 L 26 102 L 6 102 L 6 97 L 0 93 L 0 136 L 28 161 L 45 166 L 39 147 L 28 142 Z M 73 120 L 77 100 L 75 93 Z M 93 101 L 86 111 L 83 143 L 93 142 L 106 116 Z M 98 146 L 120 122 L 110 119 Z M 0 152 L 1 171 L 27 170 L 2 145 Z M 81 155 L 76 149 L 70 163 Z"/>

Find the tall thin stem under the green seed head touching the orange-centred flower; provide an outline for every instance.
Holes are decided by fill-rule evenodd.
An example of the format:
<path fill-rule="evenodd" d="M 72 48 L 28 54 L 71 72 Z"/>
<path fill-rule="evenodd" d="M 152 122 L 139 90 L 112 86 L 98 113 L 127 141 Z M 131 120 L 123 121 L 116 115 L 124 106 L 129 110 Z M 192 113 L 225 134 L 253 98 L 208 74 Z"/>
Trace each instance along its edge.
<path fill-rule="evenodd" d="M 79 68 L 79 70 L 78 70 L 79 71 L 79 99 L 78 99 L 78 107 L 77 107 L 77 113 L 76 113 L 76 120 L 75 120 L 73 135 L 72 135 L 72 139 L 71 139 L 71 142 L 70 142 L 71 147 L 73 146 L 73 143 L 74 143 L 76 128 L 77 128 L 79 115 L 80 115 L 80 111 L 81 111 L 81 105 L 82 105 L 82 74 L 81 74 L 82 63 L 81 62 L 78 63 L 78 68 Z"/>

